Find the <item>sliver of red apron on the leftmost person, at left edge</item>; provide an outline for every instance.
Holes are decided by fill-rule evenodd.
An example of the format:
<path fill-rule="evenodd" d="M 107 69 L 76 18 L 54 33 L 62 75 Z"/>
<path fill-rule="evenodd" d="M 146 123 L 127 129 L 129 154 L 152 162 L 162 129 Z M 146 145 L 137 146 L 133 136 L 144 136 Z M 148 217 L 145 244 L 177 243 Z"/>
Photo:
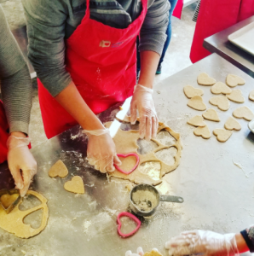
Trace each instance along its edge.
<path fill-rule="evenodd" d="M 3 108 L 3 102 L 0 101 L 0 164 L 7 160 L 7 140 L 9 133 L 7 132 L 9 125 Z"/>

